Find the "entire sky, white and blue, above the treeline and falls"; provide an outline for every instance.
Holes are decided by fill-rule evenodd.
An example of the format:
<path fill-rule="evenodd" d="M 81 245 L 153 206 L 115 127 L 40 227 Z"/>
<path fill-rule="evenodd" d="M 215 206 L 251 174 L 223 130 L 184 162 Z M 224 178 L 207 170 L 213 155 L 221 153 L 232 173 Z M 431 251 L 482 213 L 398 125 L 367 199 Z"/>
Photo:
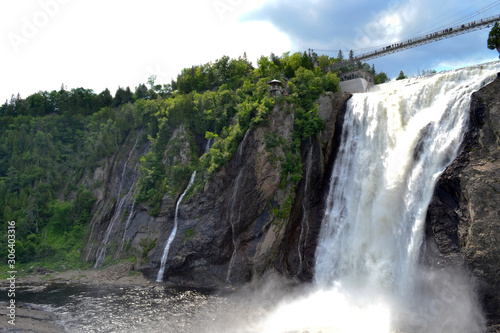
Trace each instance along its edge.
<path fill-rule="evenodd" d="M 0 101 L 83 87 L 132 90 L 156 75 L 246 53 L 336 56 L 500 14 L 499 0 L 2 0 Z M 476 16 L 472 16 L 476 15 Z M 394 78 L 498 60 L 489 29 L 368 61 Z"/>

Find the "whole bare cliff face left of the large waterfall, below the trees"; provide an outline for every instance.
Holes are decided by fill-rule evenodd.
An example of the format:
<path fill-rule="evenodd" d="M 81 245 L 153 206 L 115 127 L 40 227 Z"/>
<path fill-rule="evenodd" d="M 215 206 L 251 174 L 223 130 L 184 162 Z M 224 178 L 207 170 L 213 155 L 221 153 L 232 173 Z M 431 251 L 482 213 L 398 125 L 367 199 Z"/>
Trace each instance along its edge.
<path fill-rule="evenodd" d="M 323 199 L 340 137 L 336 134 L 350 96 L 328 93 L 320 98 L 318 111 L 326 128 L 302 145 L 303 177 L 295 187 L 289 181 L 282 184 L 293 105 L 276 105 L 265 126 L 247 131 L 227 165 L 180 204 L 164 281 L 241 284 L 268 270 L 311 279 Z M 156 217 L 148 215 L 145 205 L 134 204 L 139 158 L 149 150 L 140 135 L 131 133 L 120 151 L 86 177 L 98 200 L 84 257 L 101 267 L 111 259 L 135 256 L 138 268 L 156 278 L 174 227 L 178 196 L 166 195 Z M 179 128 L 170 141 L 182 141 L 185 135 Z"/>

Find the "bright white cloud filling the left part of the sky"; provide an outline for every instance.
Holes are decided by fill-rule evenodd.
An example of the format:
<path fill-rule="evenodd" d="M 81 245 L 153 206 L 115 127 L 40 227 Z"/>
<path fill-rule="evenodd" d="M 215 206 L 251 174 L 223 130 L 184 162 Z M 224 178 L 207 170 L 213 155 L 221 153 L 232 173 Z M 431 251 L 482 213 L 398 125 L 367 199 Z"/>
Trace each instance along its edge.
<path fill-rule="evenodd" d="M 1 2 L 0 99 L 58 90 L 62 83 L 114 93 L 153 74 L 157 83 L 170 83 L 183 68 L 224 55 L 246 52 L 255 63 L 261 55 L 283 53 L 290 49 L 288 36 L 271 23 L 238 20 L 262 1 Z M 23 42 L 14 48 L 9 33 Z"/>

